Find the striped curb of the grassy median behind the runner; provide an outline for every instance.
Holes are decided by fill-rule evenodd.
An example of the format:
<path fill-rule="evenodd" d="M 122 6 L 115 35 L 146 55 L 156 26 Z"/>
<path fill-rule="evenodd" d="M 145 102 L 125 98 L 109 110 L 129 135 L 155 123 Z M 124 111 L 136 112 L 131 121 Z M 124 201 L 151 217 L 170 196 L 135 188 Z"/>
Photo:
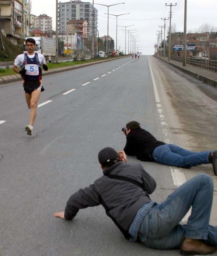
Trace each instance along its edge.
<path fill-rule="evenodd" d="M 44 76 L 48 76 L 48 75 L 51 75 L 51 74 L 57 74 L 57 73 L 65 72 L 65 71 L 70 71 L 70 70 L 73 70 L 73 69 L 92 66 L 92 65 L 95 65 L 95 64 L 99 64 L 99 63 L 104 63 L 104 62 L 108 62 L 108 61 L 123 59 L 123 58 L 127 58 L 129 56 L 123 56 L 123 57 L 118 57 L 118 58 L 109 59 L 109 60 L 94 61 L 94 62 L 89 62 L 89 63 L 82 63 L 82 64 L 77 64 L 77 65 L 72 65 L 72 66 L 67 66 L 67 67 L 52 68 L 52 69 L 49 69 L 47 71 L 42 70 L 42 74 L 43 74 L 43 77 L 44 77 Z M 1 83 L 7 83 L 7 82 L 13 82 L 13 81 L 19 81 L 19 80 L 20 81 L 22 80 L 22 78 L 19 74 L 3 76 L 3 77 L 0 77 L 0 84 Z M 5 85 L 7 85 L 7 84 L 5 84 Z"/>

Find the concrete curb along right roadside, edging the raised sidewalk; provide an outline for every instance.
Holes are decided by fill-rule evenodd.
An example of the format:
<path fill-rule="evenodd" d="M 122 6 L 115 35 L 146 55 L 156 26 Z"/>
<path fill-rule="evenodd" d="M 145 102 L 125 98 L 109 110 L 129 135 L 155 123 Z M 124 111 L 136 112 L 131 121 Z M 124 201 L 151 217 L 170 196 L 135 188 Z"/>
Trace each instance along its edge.
<path fill-rule="evenodd" d="M 156 56 L 154 56 L 154 57 L 156 57 Z M 200 74 L 198 74 L 198 73 L 195 73 L 195 72 L 193 72 L 193 71 L 190 71 L 190 70 L 188 70 L 188 69 L 186 69 L 186 68 L 180 67 L 180 66 L 178 66 L 178 65 L 176 65 L 176 64 L 174 64 L 174 63 L 171 63 L 171 62 L 169 62 L 169 61 L 163 60 L 163 59 L 161 59 L 161 58 L 159 58 L 159 57 L 156 57 L 156 58 L 159 59 L 159 60 L 161 60 L 161 61 L 164 61 L 165 63 L 167 63 L 167 64 L 169 64 L 169 65 L 171 65 L 171 66 L 173 66 L 173 67 L 175 67 L 175 68 L 177 68 L 177 69 L 179 69 L 179 70 L 181 70 L 182 72 L 184 72 L 184 73 L 186 73 L 186 74 L 188 74 L 188 75 L 190 75 L 190 76 L 192 76 L 192 77 L 194 77 L 194 78 L 200 80 L 200 81 L 203 82 L 203 83 L 209 84 L 209 85 L 211 85 L 211 86 L 217 88 L 217 80 L 213 80 L 212 78 L 205 77 L 205 76 L 203 76 L 203 75 L 200 75 Z"/>

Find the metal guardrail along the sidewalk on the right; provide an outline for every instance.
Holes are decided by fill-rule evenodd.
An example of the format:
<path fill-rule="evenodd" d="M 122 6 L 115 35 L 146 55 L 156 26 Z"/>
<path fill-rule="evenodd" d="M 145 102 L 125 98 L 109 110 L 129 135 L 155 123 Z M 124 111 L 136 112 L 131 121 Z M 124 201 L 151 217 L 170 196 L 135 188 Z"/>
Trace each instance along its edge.
<path fill-rule="evenodd" d="M 165 55 L 166 56 L 166 55 Z M 176 60 L 176 61 L 183 61 L 183 57 L 180 56 L 174 56 L 171 55 L 170 58 L 172 60 Z M 204 69 L 208 69 L 214 72 L 217 72 L 217 61 L 215 60 L 207 60 L 207 59 L 196 59 L 196 58 L 186 58 L 186 63 L 196 66 L 196 67 L 201 67 Z"/>

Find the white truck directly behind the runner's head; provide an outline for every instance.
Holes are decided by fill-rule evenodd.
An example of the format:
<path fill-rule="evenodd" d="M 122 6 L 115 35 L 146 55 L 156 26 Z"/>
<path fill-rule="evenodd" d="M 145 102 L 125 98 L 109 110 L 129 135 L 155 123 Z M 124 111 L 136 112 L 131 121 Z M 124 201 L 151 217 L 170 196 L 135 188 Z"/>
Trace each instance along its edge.
<path fill-rule="evenodd" d="M 29 36 L 27 38 L 34 38 L 36 41 L 35 52 L 41 53 L 46 58 L 46 62 L 55 62 L 56 57 L 56 39 L 44 36 Z M 26 44 L 24 42 L 24 51 L 27 52 Z"/>

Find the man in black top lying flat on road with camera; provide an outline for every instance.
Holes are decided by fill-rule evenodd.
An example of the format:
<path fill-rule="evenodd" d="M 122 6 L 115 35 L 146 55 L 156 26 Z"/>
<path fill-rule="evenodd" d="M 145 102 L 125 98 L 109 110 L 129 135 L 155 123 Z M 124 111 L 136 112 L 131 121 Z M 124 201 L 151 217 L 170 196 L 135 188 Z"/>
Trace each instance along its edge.
<path fill-rule="evenodd" d="M 158 141 L 150 132 L 142 129 L 136 121 L 127 123 L 122 131 L 126 135 L 124 152 L 129 156 L 136 155 L 141 161 L 156 161 L 183 168 L 211 163 L 213 172 L 217 175 L 217 151 L 192 152 Z"/>

